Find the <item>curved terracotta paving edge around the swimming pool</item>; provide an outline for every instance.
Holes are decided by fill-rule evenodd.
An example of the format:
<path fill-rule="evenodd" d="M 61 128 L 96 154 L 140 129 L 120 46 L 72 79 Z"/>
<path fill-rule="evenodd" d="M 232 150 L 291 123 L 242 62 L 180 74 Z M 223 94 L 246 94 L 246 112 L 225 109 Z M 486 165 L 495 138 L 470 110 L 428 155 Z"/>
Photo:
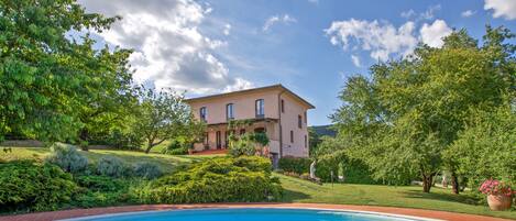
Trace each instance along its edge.
<path fill-rule="evenodd" d="M 136 212 L 151 210 L 176 210 L 176 209 L 200 209 L 200 208 L 310 208 L 310 209 L 333 209 L 391 213 L 400 216 L 410 216 L 419 218 L 430 218 L 450 221 L 508 221 L 507 219 L 483 217 L 476 214 L 464 214 L 435 210 L 393 208 L 393 207 L 373 207 L 373 206 L 352 206 L 352 205 L 321 205 L 321 203 L 202 203 L 202 205 L 142 205 L 123 206 L 91 209 L 73 209 L 51 212 L 36 212 L 17 216 L 1 216 L 0 221 L 52 221 L 69 218 L 79 218 L 85 216 L 99 216 L 118 212 Z"/>

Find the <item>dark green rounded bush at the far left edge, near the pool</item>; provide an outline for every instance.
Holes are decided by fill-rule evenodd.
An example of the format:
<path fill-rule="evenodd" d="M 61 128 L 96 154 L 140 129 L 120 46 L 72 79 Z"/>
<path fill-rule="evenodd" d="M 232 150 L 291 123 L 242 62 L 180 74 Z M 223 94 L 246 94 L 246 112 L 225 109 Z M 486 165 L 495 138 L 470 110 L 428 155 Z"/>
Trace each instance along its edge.
<path fill-rule="evenodd" d="M 55 210 L 77 191 L 72 175 L 51 164 L 0 164 L 0 212 Z"/>

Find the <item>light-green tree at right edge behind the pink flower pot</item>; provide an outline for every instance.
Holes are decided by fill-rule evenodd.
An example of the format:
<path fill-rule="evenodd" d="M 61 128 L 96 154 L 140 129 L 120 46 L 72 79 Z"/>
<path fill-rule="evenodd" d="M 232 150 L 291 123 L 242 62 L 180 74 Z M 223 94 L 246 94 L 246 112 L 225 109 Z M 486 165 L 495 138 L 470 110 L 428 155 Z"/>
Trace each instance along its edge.
<path fill-rule="evenodd" d="M 490 178 L 516 185 L 516 110 L 507 104 L 474 113 L 448 151 L 471 187 Z"/>

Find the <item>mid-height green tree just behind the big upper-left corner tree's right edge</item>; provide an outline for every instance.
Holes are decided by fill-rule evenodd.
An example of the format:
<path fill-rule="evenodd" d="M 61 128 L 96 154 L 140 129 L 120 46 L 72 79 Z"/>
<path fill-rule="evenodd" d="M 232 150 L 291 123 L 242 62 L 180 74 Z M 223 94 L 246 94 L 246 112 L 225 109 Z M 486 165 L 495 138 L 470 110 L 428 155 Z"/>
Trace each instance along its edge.
<path fill-rule="evenodd" d="M 83 100 L 84 104 L 77 110 L 83 123 L 78 132 L 81 142 L 100 140 L 106 143 L 106 136 L 130 125 L 129 118 L 135 114 L 133 107 L 138 104 L 138 99 L 128 65 L 129 54 L 130 51 L 113 54 L 109 53 L 109 48 L 100 51 L 91 76 L 101 80 L 89 85 L 90 96 Z"/>

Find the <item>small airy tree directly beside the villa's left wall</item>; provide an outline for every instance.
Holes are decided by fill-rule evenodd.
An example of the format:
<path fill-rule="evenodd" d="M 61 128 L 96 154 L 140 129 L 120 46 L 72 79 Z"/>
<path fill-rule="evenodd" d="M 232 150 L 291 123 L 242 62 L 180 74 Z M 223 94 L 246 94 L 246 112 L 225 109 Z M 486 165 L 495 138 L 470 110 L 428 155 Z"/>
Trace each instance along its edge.
<path fill-rule="evenodd" d="M 179 135 L 198 137 L 204 124 L 191 115 L 183 95 L 171 90 L 156 91 L 154 89 L 140 90 L 139 113 L 134 128 L 144 137 L 145 153 L 164 141 Z"/>

